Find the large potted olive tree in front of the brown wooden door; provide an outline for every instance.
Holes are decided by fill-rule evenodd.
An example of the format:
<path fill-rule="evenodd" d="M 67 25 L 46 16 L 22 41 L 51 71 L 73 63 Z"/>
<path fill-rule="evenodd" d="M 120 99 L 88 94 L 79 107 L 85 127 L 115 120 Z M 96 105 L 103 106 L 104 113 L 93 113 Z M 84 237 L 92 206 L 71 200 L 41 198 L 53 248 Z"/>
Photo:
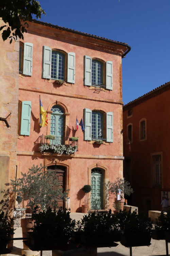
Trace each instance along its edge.
<path fill-rule="evenodd" d="M 26 218 L 21 219 L 22 236 L 26 237 L 25 233 L 32 231 L 31 213 L 36 205 L 40 210 L 45 210 L 48 206 L 57 207 L 57 198 L 67 199 L 68 193 L 63 192 L 55 172 L 47 171 L 46 167 L 40 164 L 29 168 L 28 173 L 22 173 L 22 178 L 11 180 L 14 192 L 27 202 Z M 29 251 L 29 248 L 23 244 L 23 254 Z M 35 256 L 34 252 L 34 256 Z"/>

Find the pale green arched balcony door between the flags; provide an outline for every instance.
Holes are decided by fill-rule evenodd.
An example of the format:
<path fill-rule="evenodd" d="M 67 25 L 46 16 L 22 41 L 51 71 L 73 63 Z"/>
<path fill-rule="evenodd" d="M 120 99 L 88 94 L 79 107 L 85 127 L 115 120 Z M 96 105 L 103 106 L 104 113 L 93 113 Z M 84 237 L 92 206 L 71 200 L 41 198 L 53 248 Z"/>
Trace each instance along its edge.
<path fill-rule="evenodd" d="M 51 108 L 51 127 L 50 134 L 55 135 L 53 144 L 64 144 L 64 110 L 61 106 L 54 105 Z"/>

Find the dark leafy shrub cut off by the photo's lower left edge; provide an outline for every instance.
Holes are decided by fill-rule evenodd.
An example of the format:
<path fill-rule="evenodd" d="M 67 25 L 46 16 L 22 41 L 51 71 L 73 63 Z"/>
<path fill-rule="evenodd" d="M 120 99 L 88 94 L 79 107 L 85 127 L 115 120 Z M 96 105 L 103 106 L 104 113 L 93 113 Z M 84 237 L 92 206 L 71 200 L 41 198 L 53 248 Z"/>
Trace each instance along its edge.
<path fill-rule="evenodd" d="M 6 249 L 7 244 L 11 241 L 11 235 L 14 234 L 14 219 L 8 217 L 3 211 L 0 213 L 0 254 Z"/>

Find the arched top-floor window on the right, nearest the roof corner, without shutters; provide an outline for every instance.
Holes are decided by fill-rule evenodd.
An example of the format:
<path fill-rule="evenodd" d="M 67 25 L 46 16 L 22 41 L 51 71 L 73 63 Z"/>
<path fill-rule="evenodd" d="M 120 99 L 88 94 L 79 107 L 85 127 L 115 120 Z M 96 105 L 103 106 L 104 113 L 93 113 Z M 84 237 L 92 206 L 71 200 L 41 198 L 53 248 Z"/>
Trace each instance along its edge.
<path fill-rule="evenodd" d="M 92 85 L 103 85 L 103 63 L 92 59 Z"/>

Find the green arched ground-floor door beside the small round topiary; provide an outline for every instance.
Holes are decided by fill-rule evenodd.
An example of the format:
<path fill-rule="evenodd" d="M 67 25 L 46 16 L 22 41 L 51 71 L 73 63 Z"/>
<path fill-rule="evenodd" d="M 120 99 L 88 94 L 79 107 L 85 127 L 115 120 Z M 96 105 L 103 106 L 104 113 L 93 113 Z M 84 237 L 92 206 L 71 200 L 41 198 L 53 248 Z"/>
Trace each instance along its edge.
<path fill-rule="evenodd" d="M 103 209 L 103 171 L 91 170 L 91 210 Z"/>

